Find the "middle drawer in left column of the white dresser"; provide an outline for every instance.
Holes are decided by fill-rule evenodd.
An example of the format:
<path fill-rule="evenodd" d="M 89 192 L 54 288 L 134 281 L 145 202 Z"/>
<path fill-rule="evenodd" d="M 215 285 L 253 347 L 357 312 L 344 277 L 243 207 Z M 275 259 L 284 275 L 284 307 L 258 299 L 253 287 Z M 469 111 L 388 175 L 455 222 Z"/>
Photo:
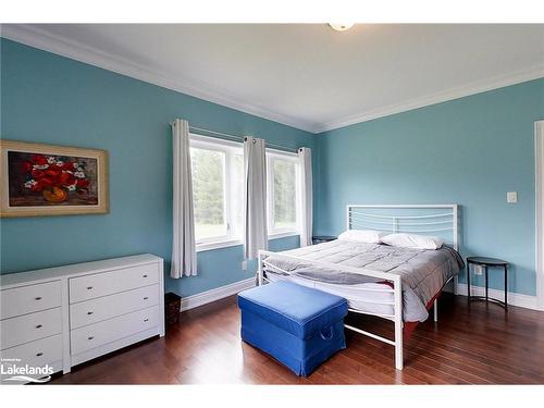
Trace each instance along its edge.
<path fill-rule="evenodd" d="M 38 311 L 0 321 L 0 349 L 5 349 L 62 332 L 61 308 Z"/>

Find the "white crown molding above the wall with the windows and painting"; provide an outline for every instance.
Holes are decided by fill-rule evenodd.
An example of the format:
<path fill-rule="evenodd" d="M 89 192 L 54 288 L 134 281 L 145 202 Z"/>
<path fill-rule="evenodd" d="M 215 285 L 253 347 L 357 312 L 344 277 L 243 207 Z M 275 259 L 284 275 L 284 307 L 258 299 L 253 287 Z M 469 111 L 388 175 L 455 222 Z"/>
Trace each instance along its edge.
<path fill-rule="evenodd" d="M 183 77 L 177 74 L 174 77 L 172 74 L 169 75 L 165 72 L 150 70 L 125 58 L 113 55 L 79 41 L 49 33 L 30 24 L 2 24 L 0 26 L 0 36 L 306 132 L 311 132 L 317 126 L 316 123 L 301 121 L 255 103 L 248 103 L 242 98 L 224 89 L 218 89 L 218 87 L 208 85 L 205 82 Z"/>

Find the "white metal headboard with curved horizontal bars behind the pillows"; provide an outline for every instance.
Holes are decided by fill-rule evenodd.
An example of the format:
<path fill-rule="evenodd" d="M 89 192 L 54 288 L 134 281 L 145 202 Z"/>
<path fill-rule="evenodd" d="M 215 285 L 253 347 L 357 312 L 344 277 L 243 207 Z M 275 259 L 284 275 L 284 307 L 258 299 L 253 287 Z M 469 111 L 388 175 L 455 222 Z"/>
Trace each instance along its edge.
<path fill-rule="evenodd" d="M 392 213 L 372 213 L 372 209 L 385 209 Z M 417 214 L 409 214 L 407 210 L 421 211 Z M 450 231 L 450 244 L 455 250 L 459 250 L 457 205 L 348 205 L 346 226 L 348 230 L 378 230 L 428 235 Z"/>

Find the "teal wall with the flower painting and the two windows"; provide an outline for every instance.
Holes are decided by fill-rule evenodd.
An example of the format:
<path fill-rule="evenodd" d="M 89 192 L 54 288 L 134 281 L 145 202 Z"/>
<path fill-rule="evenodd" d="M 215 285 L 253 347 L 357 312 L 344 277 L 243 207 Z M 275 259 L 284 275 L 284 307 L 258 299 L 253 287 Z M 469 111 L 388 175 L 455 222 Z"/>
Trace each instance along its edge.
<path fill-rule="evenodd" d="M 293 127 L 1 39 L 1 136 L 98 148 L 110 154 L 110 212 L 2 219 L 1 273 L 151 252 L 171 258 L 171 131 L 199 127 L 313 148 Z M 292 248 L 298 237 L 276 239 Z M 198 255 L 197 277 L 168 280 L 187 296 L 250 277 L 242 247 Z"/>

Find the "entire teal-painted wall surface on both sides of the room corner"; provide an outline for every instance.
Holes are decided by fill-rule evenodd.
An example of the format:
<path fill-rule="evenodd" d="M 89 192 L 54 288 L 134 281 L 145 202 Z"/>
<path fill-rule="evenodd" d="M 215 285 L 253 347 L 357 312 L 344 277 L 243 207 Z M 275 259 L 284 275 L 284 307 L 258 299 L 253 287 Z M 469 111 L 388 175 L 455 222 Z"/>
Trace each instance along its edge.
<path fill-rule="evenodd" d="M 512 263 L 510 289 L 534 295 L 533 123 L 544 79 L 318 136 L 2 39 L 1 136 L 106 149 L 110 213 L 2 219 L 0 272 L 152 252 L 170 260 L 169 122 L 254 134 L 314 150 L 314 232 L 337 234 L 345 205 L 461 205 L 463 256 Z M 507 205 L 507 190 L 519 202 Z M 293 248 L 298 237 L 271 242 Z M 199 252 L 199 275 L 168 280 L 183 296 L 250 277 L 242 247 Z M 461 280 L 462 281 L 462 280 Z M 499 279 L 492 287 L 502 287 Z"/>

